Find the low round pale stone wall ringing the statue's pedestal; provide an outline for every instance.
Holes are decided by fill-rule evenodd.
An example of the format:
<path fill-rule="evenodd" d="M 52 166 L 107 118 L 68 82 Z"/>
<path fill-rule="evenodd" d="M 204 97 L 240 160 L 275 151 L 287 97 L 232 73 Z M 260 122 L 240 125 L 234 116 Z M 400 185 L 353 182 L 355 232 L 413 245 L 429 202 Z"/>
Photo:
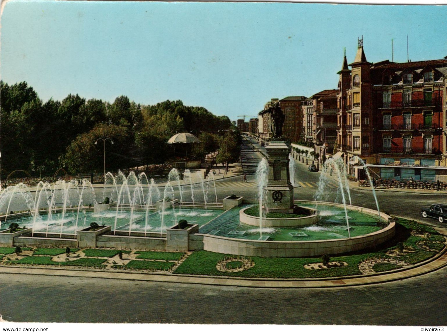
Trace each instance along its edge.
<path fill-rule="evenodd" d="M 305 217 L 298 218 L 266 218 L 262 217 L 261 222 L 259 217 L 255 217 L 245 213 L 245 208 L 239 211 L 239 220 L 242 223 L 260 226 L 260 227 L 295 227 L 295 226 L 309 226 L 318 222 L 318 210 L 309 207 L 300 206 L 304 210 L 308 210 L 309 214 Z M 293 214 L 291 214 L 293 216 Z"/>

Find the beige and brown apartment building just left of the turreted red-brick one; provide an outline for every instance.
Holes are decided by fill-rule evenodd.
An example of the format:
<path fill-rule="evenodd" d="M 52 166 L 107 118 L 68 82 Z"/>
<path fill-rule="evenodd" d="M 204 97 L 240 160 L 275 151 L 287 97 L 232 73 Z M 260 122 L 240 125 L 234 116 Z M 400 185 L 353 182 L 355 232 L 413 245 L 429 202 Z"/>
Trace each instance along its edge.
<path fill-rule="evenodd" d="M 337 89 L 320 91 L 302 105 L 304 139 L 320 155 L 332 153 L 337 139 L 337 93 Z"/>

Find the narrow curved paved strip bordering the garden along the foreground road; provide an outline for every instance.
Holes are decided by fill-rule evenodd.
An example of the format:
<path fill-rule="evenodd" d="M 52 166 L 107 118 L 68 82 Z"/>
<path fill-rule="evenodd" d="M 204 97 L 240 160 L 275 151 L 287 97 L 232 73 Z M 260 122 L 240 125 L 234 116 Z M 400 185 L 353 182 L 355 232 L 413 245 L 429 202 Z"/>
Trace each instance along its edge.
<path fill-rule="evenodd" d="M 103 272 L 85 271 L 56 268 L 20 268 L 0 267 L 0 273 L 30 274 L 64 277 L 91 277 L 105 279 L 119 279 L 148 282 L 174 282 L 184 284 L 198 284 L 210 286 L 239 286 L 257 288 L 328 288 L 342 286 L 363 286 L 384 282 L 392 282 L 410 277 L 420 276 L 447 266 L 447 254 L 444 251 L 440 256 L 413 268 L 401 269 L 396 272 L 384 272 L 372 275 L 352 277 L 324 278 L 324 279 L 260 279 L 238 278 L 219 276 L 176 275 L 162 273 L 127 273 L 127 272 Z"/>

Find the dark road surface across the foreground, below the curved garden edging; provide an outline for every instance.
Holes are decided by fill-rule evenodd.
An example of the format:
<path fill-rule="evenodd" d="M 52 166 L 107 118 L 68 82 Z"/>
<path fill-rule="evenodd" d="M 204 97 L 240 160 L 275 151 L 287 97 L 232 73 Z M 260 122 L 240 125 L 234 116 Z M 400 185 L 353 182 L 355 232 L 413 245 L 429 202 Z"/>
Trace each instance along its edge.
<path fill-rule="evenodd" d="M 0 313 L 15 322 L 445 326 L 446 273 L 285 290 L 3 274 Z"/>

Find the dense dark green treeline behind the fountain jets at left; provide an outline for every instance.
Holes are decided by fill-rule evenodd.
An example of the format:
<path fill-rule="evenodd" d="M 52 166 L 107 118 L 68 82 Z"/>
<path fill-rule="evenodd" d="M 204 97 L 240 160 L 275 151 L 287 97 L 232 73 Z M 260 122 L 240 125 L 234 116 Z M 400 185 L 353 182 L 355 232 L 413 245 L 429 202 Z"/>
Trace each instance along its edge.
<path fill-rule="evenodd" d="M 236 129 L 227 116 L 181 101 L 140 105 L 126 96 L 109 103 L 70 94 L 44 103 L 26 82 L 0 83 L 3 176 L 17 169 L 38 176 L 58 168 L 72 174 L 101 172 L 103 142 L 95 142 L 104 138 L 114 142 L 105 142 L 105 162 L 112 171 L 164 163 L 174 157 L 167 140 L 177 132 L 197 135 L 202 143 L 192 153 L 201 156 L 219 148 L 224 134 Z"/>

